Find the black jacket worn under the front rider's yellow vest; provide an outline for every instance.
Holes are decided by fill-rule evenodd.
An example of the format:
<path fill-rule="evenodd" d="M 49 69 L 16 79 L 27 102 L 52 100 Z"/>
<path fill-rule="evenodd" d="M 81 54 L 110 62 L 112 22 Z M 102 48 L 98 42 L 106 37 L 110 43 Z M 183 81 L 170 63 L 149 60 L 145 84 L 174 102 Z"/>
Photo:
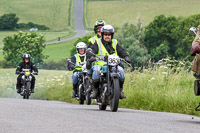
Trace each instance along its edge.
<path fill-rule="evenodd" d="M 107 52 L 109 54 L 113 54 L 115 53 L 115 49 L 113 48 L 112 46 L 112 42 L 110 43 L 107 43 L 105 41 L 102 41 L 105 49 L 107 50 Z M 98 47 L 98 44 L 97 42 L 95 42 L 92 46 L 91 46 L 91 49 L 93 50 L 93 53 L 94 54 L 98 54 L 98 51 L 99 51 L 99 47 Z M 128 56 L 126 50 L 124 48 L 122 48 L 118 43 L 117 43 L 117 46 L 116 46 L 116 50 L 117 50 L 117 55 L 120 57 L 120 58 L 125 58 L 126 56 Z M 91 63 L 89 62 L 89 59 L 91 58 L 92 55 L 89 55 L 87 54 L 87 64 L 86 64 L 86 67 L 87 69 L 89 69 L 91 67 Z"/>

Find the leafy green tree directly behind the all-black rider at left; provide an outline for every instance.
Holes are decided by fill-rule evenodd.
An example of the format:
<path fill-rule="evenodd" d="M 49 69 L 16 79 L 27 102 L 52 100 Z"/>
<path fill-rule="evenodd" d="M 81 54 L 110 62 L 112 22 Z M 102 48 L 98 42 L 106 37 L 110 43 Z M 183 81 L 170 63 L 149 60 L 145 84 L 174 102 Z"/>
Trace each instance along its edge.
<path fill-rule="evenodd" d="M 43 59 L 47 58 L 42 53 L 45 48 L 44 42 L 43 35 L 20 31 L 13 37 L 8 36 L 3 39 L 4 58 L 9 64 L 16 67 L 22 61 L 22 55 L 28 53 L 34 63 L 43 63 Z"/>

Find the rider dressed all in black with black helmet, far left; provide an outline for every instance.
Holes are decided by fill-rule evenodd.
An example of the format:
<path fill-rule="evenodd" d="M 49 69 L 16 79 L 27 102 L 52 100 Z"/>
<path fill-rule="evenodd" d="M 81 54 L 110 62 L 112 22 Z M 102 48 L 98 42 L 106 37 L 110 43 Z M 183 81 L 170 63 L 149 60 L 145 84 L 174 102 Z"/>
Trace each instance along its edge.
<path fill-rule="evenodd" d="M 35 75 L 38 74 L 38 69 L 36 68 L 35 64 L 30 61 L 30 55 L 24 54 L 22 58 L 23 58 L 23 62 L 21 62 L 16 69 L 16 74 L 19 74 L 19 76 L 17 77 L 17 85 L 16 85 L 17 93 L 21 93 L 21 87 L 22 87 L 21 81 L 22 81 L 22 76 L 23 76 L 23 73 L 21 73 L 22 69 L 30 69 L 31 73 L 32 71 L 34 71 Z M 32 76 L 31 93 L 34 93 L 35 77 L 32 74 L 31 76 Z"/>

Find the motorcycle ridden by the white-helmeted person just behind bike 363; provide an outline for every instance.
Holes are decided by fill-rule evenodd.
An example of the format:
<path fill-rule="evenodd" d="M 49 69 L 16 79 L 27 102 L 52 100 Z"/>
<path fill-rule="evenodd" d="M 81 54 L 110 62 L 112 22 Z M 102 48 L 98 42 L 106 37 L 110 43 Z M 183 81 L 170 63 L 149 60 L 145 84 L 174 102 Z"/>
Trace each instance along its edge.
<path fill-rule="evenodd" d="M 69 63 L 72 63 L 75 65 L 73 62 L 71 62 L 70 59 L 68 59 Z M 76 66 L 76 65 L 75 65 Z M 84 101 L 86 101 L 87 105 L 91 104 L 91 86 L 89 83 L 89 79 L 87 76 L 87 69 L 86 69 L 86 64 L 85 63 L 80 63 L 76 67 L 81 67 L 81 71 L 77 71 L 78 73 L 78 96 L 76 99 L 79 101 L 79 104 L 84 104 Z"/>

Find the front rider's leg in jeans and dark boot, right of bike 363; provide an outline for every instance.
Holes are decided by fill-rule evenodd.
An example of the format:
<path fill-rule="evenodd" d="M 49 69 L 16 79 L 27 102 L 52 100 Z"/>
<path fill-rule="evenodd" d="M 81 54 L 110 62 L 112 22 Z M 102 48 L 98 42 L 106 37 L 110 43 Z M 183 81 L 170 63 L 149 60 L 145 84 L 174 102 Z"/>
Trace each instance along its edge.
<path fill-rule="evenodd" d="M 124 69 L 120 66 L 118 66 L 118 71 L 120 73 L 120 99 L 126 98 L 124 92 L 123 92 L 123 85 L 124 85 Z"/>

